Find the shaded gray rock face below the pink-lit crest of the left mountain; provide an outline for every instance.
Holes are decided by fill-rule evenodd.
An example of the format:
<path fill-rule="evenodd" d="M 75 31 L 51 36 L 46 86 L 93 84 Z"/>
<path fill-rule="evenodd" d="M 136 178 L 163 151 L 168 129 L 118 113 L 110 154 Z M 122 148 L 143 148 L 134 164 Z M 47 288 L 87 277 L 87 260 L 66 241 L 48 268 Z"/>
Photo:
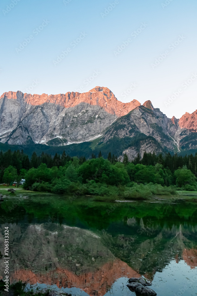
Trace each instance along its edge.
<path fill-rule="evenodd" d="M 100 106 L 81 102 L 70 108 L 46 102 L 32 106 L 17 92 L 17 99 L 0 100 L 0 141 L 7 144 L 64 145 L 102 135 L 116 119 Z M 51 141 L 51 142 L 50 142 Z"/>

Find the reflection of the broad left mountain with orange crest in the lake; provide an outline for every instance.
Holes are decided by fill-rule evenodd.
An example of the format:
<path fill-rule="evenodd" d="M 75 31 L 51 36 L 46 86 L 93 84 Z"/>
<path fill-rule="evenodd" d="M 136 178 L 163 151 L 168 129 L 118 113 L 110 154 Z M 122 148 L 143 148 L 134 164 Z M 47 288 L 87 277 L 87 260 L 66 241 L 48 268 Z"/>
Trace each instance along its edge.
<path fill-rule="evenodd" d="M 14 233 L 12 281 L 78 287 L 89 295 L 104 295 L 116 279 L 139 276 L 91 231 L 59 224 L 30 225 L 23 233 L 16 224 L 9 229 Z M 0 269 L 3 274 L 3 262 Z"/>

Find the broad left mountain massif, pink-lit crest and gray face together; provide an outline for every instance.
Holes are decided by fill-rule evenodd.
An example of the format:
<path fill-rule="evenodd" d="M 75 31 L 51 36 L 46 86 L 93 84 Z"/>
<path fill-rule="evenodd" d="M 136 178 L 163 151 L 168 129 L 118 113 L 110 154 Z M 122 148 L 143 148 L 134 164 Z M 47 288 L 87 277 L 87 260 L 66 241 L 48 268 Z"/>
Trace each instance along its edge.
<path fill-rule="evenodd" d="M 50 96 L 9 91 L 0 97 L 0 141 L 57 146 L 89 141 L 139 105 L 119 102 L 106 87 Z"/>

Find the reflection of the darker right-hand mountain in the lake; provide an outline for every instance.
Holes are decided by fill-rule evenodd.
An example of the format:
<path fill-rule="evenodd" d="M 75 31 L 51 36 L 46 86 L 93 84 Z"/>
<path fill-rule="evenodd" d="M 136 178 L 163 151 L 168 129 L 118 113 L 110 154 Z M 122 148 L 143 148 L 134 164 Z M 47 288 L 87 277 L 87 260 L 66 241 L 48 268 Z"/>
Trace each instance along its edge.
<path fill-rule="evenodd" d="M 193 259 L 196 257 L 196 235 L 197 226 L 180 225 L 170 229 L 158 225 L 144 226 L 141 220 L 140 225 L 132 223 L 130 235 L 128 229 L 126 234 L 118 236 L 103 231 L 103 240 L 116 258 L 140 274 L 153 275 L 156 271 L 162 271 L 175 258 L 178 261 L 183 258 L 188 265 L 197 266 Z"/>

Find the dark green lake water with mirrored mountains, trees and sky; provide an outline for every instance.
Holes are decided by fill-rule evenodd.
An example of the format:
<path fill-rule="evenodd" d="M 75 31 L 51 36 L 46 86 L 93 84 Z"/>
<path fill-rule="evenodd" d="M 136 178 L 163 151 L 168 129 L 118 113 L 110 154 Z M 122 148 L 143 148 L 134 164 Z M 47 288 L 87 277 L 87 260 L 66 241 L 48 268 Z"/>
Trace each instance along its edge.
<path fill-rule="evenodd" d="M 12 282 L 78 295 L 133 296 L 128 278 L 142 275 L 159 296 L 197 295 L 195 202 L 7 196 L 0 205 L 1 253 L 5 226 Z"/>

